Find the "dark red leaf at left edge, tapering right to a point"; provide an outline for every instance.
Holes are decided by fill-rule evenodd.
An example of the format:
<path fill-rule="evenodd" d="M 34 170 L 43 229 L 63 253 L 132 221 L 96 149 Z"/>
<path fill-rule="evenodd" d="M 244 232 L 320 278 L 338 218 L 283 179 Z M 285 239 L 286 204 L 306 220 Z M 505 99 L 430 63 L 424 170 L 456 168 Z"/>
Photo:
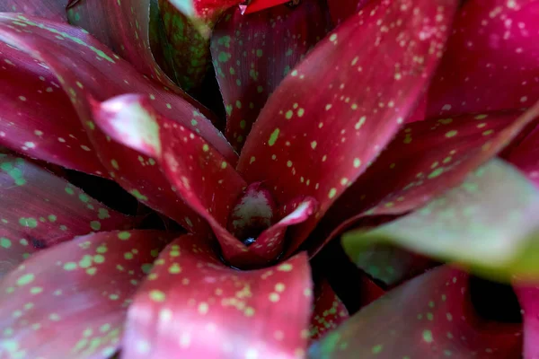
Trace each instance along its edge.
<path fill-rule="evenodd" d="M 75 109 L 47 66 L 0 42 L 0 145 L 107 177 Z"/>

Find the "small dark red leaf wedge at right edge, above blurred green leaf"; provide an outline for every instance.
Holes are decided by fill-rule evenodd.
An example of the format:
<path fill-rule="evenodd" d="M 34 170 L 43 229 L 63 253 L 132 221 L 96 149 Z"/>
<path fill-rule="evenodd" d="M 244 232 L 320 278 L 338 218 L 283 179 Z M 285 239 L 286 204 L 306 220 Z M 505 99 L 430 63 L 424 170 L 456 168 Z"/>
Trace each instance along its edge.
<path fill-rule="evenodd" d="M 527 134 L 504 158 L 539 187 L 539 127 Z"/>

